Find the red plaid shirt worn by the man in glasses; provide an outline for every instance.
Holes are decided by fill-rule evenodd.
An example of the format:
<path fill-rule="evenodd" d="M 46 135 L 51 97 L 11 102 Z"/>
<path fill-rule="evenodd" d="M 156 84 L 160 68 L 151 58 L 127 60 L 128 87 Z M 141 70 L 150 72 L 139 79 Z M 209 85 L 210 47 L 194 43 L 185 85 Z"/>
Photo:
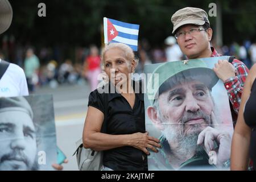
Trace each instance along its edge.
<path fill-rule="evenodd" d="M 222 56 L 219 54 L 213 47 L 212 49 L 212 56 L 217 57 Z M 245 79 L 249 73 L 249 69 L 246 67 L 242 61 L 234 59 L 232 64 L 236 71 L 236 76 L 230 77 L 228 80 L 224 82 L 224 86 L 228 91 L 229 100 L 233 105 L 234 111 L 238 114 L 238 110 L 240 107 L 241 96 L 243 92 L 243 85 L 245 85 Z"/>

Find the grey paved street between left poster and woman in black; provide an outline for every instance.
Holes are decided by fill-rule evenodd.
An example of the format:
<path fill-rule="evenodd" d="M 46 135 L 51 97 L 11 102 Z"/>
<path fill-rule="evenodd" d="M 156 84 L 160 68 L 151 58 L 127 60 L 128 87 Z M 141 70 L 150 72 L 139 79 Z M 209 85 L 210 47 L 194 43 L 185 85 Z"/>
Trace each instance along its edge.
<path fill-rule="evenodd" d="M 61 85 L 56 89 L 45 86 L 36 89 L 35 94 L 52 94 L 55 111 L 57 146 L 67 155 L 68 164 L 64 170 L 77 170 L 75 142 L 82 137 L 90 88 L 80 85 Z"/>

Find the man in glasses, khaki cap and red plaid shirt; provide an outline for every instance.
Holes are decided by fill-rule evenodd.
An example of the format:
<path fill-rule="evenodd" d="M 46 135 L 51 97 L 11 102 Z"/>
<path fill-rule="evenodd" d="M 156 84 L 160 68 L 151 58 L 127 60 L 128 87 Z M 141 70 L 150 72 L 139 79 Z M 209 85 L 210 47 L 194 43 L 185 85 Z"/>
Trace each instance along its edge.
<path fill-rule="evenodd" d="M 172 15 L 171 21 L 174 24 L 172 33 L 175 34 L 181 51 L 188 59 L 221 56 L 216 49 L 210 47 L 213 31 L 204 10 L 185 7 L 176 11 Z M 224 82 L 229 101 L 233 106 L 232 113 L 236 115 L 249 70 L 241 61 L 233 59 L 232 63 L 227 60 L 219 60 L 213 71 Z M 233 125 L 235 124 L 236 118 L 233 118 Z"/>

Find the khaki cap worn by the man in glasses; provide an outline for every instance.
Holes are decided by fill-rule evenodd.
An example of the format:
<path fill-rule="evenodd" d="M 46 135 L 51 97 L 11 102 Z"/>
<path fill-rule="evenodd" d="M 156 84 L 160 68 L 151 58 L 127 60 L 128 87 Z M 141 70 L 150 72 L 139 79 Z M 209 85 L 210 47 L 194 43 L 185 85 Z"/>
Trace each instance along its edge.
<path fill-rule="evenodd" d="M 174 34 L 177 28 L 184 24 L 203 25 L 205 22 L 210 24 L 207 13 L 197 7 L 185 7 L 176 11 L 176 13 L 172 15 L 171 21 L 172 24 L 174 24 L 172 34 Z"/>

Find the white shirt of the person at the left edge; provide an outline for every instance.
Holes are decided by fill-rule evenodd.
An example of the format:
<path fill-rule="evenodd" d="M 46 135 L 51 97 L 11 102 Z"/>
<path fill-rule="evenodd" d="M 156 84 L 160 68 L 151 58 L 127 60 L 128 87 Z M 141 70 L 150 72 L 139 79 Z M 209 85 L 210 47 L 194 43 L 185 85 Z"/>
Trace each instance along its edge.
<path fill-rule="evenodd" d="M 0 80 L 0 97 L 16 96 L 28 96 L 27 80 L 23 69 L 10 63 Z"/>

